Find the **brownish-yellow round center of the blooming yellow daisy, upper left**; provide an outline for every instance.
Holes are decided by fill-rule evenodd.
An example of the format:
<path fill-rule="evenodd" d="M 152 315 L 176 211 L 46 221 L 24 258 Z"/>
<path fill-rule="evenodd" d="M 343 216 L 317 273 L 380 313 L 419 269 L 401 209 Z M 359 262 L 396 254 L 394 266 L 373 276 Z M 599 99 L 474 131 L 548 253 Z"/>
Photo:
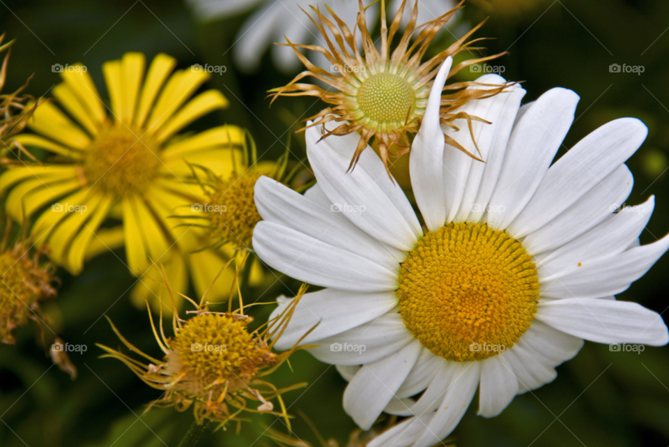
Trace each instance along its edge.
<path fill-rule="evenodd" d="M 125 127 L 102 130 L 84 157 L 89 184 L 116 197 L 146 190 L 160 167 L 160 144 L 143 134 Z"/>

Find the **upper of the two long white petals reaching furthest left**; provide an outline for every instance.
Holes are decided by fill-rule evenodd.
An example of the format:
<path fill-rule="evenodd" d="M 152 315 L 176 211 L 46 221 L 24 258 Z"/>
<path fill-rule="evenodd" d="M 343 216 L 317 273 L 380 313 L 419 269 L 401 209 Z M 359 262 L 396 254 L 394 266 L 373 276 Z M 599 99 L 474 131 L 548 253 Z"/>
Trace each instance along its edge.
<path fill-rule="evenodd" d="M 316 205 L 274 179 L 266 176 L 258 179 L 254 197 L 263 220 L 355 253 L 391 271 L 397 270 L 404 258 L 403 252 L 361 231 L 332 206 Z"/>

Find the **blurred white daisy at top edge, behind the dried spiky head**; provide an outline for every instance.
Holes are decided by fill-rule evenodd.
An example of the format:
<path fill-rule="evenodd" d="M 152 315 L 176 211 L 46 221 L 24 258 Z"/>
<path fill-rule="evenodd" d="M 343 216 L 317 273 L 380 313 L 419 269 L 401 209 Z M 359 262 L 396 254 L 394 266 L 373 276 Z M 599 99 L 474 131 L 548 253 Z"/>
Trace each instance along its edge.
<path fill-rule="evenodd" d="M 358 0 L 187 0 L 192 7 L 197 20 L 203 22 L 235 17 L 249 10 L 256 10 L 247 18 L 235 37 L 233 54 L 236 63 L 246 72 L 253 72 L 260 66 L 260 61 L 270 45 L 272 46 L 272 61 L 284 73 L 293 73 L 300 68 L 300 60 L 291 47 L 272 45 L 286 43 L 289 38 L 293 43 L 321 45 L 327 47 L 323 38 L 318 36 L 316 26 L 309 20 L 305 11 L 311 12 L 309 6 L 325 11 L 325 5 L 332 9 L 353 31 L 355 17 L 358 11 Z M 371 3 L 365 1 L 365 3 Z M 390 17 L 394 16 L 401 6 L 402 0 L 390 0 Z M 407 2 L 403 16 L 402 28 L 406 26 L 414 2 Z M 444 11 L 456 6 L 453 0 L 421 0 L 417 24 L 434 20 Z M 300 9 L 303 8 L 304 10 Z M 375 5 L 367 9 L 365 14 L 369 22 L 374 23 L 378 15 Z M 449 23 L 449 26 L 451 24 Z M 356 32 L 360 43 L 360 31 Z M 314 63 L 321 68 L 328 63 L 320 54 L 312 54 Z"/>

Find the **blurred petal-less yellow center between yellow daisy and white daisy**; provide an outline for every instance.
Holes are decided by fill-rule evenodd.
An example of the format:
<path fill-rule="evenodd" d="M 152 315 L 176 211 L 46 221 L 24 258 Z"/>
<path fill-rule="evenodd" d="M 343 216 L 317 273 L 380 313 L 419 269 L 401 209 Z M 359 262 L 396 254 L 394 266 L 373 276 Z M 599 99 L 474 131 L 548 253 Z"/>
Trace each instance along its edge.
<path fill-rule="evenodd" d="M 210 238 L 214 242 L 251 245 L 253 228 L 262 220 L 253 196 L 260 176 L 259 172 L 248 171 L 217 187 L 207 209 L 212 227 Z"/>

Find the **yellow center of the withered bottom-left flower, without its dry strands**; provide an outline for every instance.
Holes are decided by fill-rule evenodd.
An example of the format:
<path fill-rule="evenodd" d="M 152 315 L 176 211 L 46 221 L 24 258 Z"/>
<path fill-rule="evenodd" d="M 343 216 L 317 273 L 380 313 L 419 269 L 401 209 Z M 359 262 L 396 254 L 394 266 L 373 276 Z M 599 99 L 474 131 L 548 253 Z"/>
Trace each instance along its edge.
<path fill-rule="evenodd" d="M 233 391 L 252 379 L 260 368 L 276 362 L 276 354 L 247 331 L 247 321 L 229 315 L 203 313 L 186 321 L 171 349 L 193 395 Z"/>

